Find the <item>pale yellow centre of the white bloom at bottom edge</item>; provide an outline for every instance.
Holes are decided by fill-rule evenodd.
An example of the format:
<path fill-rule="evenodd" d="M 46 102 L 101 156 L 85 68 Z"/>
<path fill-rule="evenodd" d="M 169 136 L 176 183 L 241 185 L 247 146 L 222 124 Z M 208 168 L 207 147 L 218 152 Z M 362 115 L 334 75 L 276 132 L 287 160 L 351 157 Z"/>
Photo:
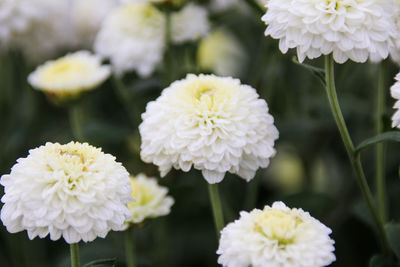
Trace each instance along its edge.
<path fill-rule="evenodd" d="M 264 210 L 257 219 L 254 230 L 269 239 L 277 240 L 279 245 L 292 244 L 296 230 L 303 221 L 290 211 Z"/>

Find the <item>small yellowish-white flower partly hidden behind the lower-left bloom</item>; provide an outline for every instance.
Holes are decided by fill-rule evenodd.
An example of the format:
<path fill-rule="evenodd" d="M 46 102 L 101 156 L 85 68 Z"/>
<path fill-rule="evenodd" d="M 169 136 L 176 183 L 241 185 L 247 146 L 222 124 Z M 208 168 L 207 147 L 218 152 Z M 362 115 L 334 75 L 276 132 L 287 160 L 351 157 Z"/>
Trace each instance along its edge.
<path fill-rule="evenodd" d="M 170 213 L 174 199 L 167 196 L 168 189 L 157 184 L 155 178 L 144 174 L 131 177 L 132 197 L 134 202 L 128 203 L 132 215 L 129 223 L 141 223 L 147 218 L 155 218 Z"/>

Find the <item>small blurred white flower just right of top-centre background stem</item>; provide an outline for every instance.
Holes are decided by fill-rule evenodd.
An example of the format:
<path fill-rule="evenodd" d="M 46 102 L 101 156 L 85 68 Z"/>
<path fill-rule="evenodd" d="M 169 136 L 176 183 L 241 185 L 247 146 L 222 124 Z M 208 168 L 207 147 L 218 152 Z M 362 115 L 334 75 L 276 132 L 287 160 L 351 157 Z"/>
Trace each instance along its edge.
<path fill-rule="evenodd" d="M 188 4 L 171 15 L 171 39 L 174 43 L 196 41 L 209 31 L 207 10 L 198 5 Z"/>

